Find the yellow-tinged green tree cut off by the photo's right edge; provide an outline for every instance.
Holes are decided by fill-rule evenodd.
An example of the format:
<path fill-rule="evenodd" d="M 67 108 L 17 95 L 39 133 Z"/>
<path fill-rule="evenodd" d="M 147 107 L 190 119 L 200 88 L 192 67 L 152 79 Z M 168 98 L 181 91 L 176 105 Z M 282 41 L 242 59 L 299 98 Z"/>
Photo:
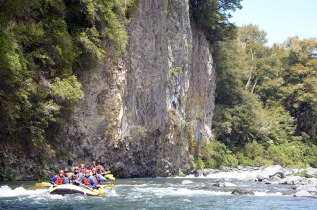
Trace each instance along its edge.
<path fill-rule="evenodd" d="M 285 83 L 281 87 L 283 104 L 296 118 L 297 135 L 317 143 L 317 59 L 311 53 L 316 39 L 289 38 L 285 42 Z"/>

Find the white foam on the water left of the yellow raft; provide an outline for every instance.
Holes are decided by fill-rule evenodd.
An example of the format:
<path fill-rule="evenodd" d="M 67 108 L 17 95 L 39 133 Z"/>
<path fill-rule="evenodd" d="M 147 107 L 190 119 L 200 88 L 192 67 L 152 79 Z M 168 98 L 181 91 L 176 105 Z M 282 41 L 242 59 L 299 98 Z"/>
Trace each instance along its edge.
<path fill-rule="evenodd" d="M 17 187 L 12 189 L 11 187 L 5 185 L 0 187 L 0 197 L 17 197 L 21 195 L 40 195 L 47 192 L 47 189 L 40 190 L 28 190 L 23 187 Z"/>

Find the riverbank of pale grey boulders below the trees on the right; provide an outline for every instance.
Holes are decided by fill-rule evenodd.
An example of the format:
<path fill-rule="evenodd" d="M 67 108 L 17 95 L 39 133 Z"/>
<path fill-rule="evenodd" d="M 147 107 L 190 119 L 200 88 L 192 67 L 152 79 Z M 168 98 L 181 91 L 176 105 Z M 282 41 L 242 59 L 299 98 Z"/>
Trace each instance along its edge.
<path fill-rule="evenodd" d="M 300 175 L 300 176 L 299 176 Z M 295 197 L 317 198 L 317 169 L 290 169 L 280 165 L 264 167 L 224 167 L 219 169 L 199 169 L 195 170 L 190 177 L 220 179 L 212 183 L 213 187 L 235 187 L 235 184 L 228 180 L 237 179 L 241 181 L 252 181 L 255 184 L 266 185 L 291 185 L 291 190 L 283 195 Z M 232 191 L 233 192 L 233 191 Z M 251 192 L 241 191 L 240 194 L 251 194 Z M 239 194 L 239 192 L 238 192 Z"/>

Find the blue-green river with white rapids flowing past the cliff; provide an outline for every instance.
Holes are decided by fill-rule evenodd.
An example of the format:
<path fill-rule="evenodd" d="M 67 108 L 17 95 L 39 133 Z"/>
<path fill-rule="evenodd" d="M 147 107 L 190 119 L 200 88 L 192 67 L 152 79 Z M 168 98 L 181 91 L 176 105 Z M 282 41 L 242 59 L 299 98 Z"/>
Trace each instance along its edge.
<path fill-rule="evenodd" d="M 242 177 L 242 178 L 241 178 Z M 231 187 L 215 187 L 217 181 Z M 245 176 L 117 179 L 107 197 L 50 195 L 30 190 L 36 182 L 0 183 L 2 209 L 317 209 L 316 198 L 283 195 L 291 185 L 267 185 Z M 234 189 L 254 195 L 232 195 Z M 1 209 L 0 208 L 0 209 Z"/>

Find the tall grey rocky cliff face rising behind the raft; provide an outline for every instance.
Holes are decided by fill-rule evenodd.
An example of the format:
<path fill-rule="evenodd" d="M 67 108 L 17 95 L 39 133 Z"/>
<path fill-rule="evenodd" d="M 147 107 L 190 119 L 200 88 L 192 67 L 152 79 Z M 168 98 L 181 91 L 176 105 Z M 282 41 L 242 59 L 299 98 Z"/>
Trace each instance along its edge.
<path fill-rule="evenodd" d="M 65 128 L 70 157 L 123 177 L 175 175 L 211 136 L 215 70 L 188 0 L 141 0 L 124 59 L 83 75 L 85 98 Z M 108 52 L 111 52 L 109 47 Z"/>

